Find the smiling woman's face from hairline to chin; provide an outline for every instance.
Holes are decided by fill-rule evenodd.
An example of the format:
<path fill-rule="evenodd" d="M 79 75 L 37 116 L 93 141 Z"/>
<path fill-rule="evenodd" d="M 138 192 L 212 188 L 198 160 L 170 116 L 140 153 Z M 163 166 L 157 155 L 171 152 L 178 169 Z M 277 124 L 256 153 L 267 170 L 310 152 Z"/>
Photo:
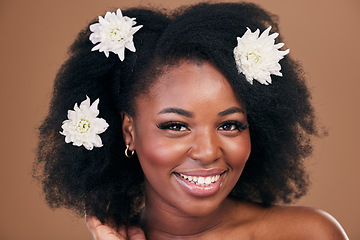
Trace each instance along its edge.
<path fill-rule="evenodd" d="M 245 109 L 225 77 L 209 63 L 183 62 L 136 104 L 127 140 L 145 174 L 147 201 L 183 215 L 216 210 L 251 148 Z"/>

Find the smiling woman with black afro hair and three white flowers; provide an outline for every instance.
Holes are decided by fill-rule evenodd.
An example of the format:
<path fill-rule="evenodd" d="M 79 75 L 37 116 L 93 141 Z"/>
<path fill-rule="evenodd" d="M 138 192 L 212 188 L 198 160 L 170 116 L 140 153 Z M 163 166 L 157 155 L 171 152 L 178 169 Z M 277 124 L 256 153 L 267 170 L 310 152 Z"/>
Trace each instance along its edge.
<path fill-rule="evenodd" d="M 306 193 L 318 135 L 277 32 L 246 3 L 99 17 L 40 127 L 35 175 L 50 206 L 87 214 L 104 240 L 347 239 L 326 213 L 275 206 Z"/>

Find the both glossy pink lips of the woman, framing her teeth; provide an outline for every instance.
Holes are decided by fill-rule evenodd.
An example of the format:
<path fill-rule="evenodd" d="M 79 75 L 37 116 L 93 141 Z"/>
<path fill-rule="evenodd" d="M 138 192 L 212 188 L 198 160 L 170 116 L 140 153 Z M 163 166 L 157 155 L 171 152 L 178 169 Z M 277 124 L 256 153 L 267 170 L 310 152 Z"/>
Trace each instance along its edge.
<path fill-rule="evenodd" d="M 220 175 L 220 178 L 212 183 L 209 186 L 201 186 L 196 185 L 193 182 L 190 182 L 186 180 L 185 178 L 180 176 L 180 172 L 174 172 L 175 179 L 179 182 L 180 186 L 185 189 L 188 193 L 190 193 L 193 196 L 196 197 L 208 197 L 211 195 L 214 195 L 220 190 L 220 187 L 222 186 L 227 171 L 224 170 L 199 170 L 199 171 L 186 171 L 181 172 L 181 174 L 188 175 L 188 176 L 199 176 L 199 177 L 206 177 L 206 176 L 214 176 L 214 175 Z"/>

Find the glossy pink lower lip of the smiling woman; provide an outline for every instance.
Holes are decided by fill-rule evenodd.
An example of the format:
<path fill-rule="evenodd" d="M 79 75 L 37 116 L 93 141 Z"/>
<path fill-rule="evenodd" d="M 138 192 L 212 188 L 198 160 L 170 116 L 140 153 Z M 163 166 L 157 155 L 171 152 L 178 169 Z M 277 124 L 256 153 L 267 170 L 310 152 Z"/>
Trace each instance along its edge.
<path fill-rule="evenodd" d="M 190 193 L 191 195 L 197 196 L 197 197 L 208 197 L 211 195 L 214 195 L 215 193 L 217 193 L 224 181 L 225 178 L 225 174 L 221 174 L 220 178 L 212 183 L 209 186 L 201 186 L 201 185 L 196 185 L 195 183 L 189 182 L 188 180 L 184 179 L 183 177 L 181 177 L 179 174 L 174 174 L 176 180 L 180 183 L 180 185 L 185 188 L 185 190 Z"/>

